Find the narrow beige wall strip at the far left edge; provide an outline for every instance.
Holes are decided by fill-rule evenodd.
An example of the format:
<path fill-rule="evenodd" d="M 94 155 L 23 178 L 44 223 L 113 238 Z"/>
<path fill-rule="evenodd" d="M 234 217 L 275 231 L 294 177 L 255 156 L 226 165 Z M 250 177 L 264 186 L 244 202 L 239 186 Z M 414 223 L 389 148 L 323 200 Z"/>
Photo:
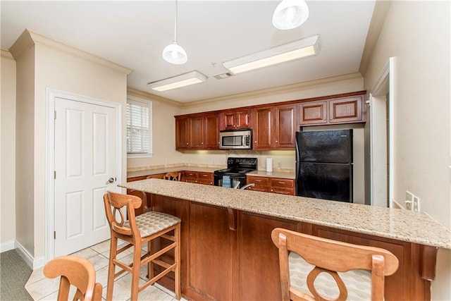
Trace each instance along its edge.
<path fill-rule="evenodd" d="M 0 252 L 16 240 L 16 61 L 1 50 Z"/>

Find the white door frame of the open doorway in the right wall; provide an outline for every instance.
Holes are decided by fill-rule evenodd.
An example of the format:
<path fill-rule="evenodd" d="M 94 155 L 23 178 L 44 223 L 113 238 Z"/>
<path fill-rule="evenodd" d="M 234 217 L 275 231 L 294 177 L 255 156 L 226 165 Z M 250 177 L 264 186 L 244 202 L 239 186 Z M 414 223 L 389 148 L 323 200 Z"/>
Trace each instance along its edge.
<path fill-rule="evenodd" d="M 388 207 L 393 207 L 393 191 L 395 189 L 395 180 L 393 178 L 395 174 L 395 165 L 394 165 L 394 156 L 395 156 L 395 124 L 393 120 L 394 116 L 394 102 L 396 99 L 395 94 L 395 57 L 390 57 L 388 59 L 388 62 L 385 64 L 383 70 L 381 71 L 381 74 L 378 76 L 378 79 L 374 83 L 373 87 L 370 91 L 370 105 L 373 102 L 378 101 L 387 101 L 388 102 Z M 386 98 L 386 95 L 388 94 L 388 98 Z M 371 106 L 370 106 L 371 108 Z M 387 113 L 387 112 L 385 112 Z M 373 123 L 373 116 L 370 118 L 370 123 Z M 383 121 L 385 124 L 387 123 L 386 120 Z M 387 140 L 386 140 L 387 141 Z M 370 148 L 371 148 L 371 171 L 370 171 L 370 195 L 371 195 L 371 205 L 375 205 L 374 200 L 374 189 L 373 189 L 373 180 L 374 180 L 374 145 L 375 141 L 373 140 L 373 125 L 370 125 Z"/>

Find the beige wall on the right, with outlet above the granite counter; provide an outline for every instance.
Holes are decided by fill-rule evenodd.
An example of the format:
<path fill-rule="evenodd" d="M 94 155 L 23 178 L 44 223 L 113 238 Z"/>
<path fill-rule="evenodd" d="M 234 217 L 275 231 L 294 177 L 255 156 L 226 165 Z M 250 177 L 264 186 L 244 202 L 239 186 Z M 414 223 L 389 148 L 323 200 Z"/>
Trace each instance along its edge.
<path fill-rule="evenodd" d="M 393 1 L 364 74 L 370 90 L 395 57 L 395 191 L 451 229 L 450 2 Z M 433 300 L 451 300 L 451 252 L 438 250 Z"/>

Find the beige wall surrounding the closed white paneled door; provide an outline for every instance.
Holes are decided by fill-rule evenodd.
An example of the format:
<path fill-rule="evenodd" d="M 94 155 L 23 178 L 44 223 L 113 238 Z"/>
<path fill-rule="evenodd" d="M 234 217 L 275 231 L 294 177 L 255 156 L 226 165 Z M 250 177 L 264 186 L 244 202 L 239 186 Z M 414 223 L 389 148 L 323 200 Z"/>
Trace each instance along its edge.
<path fill-rule="evenodd" d="M 33 47 L 23 47 L 30 42 L 34 44 Z M 23 45 L 20 45 L 21 43 Z M 77 49 L 71 49 L 34 32 L 24 32 L 18 42 L 11 47 L 11 52 L 18 66 L 20 120 L 17 139 L 23 141 L 16 154 L 17 181 L 20 183 L 16 197 L 17 240 L 37 260 L 43 258 L 45 252 L 47 89 L 123 105 L 122 173 L 125 178 L 125 103 L 129 70 Z M 30 82 L 34 82 L 34 85 Z M 26 184 L 23 180 L 26 180 Z"/>

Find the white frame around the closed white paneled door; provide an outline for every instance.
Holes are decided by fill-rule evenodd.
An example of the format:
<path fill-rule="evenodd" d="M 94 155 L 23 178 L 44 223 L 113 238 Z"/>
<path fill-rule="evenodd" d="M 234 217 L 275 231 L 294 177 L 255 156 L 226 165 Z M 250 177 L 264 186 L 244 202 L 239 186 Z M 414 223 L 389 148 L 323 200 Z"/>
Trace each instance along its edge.
<path fill-rule="evenodd" d="M 49 260 L 55 257 L 55 241 L 54 241 L 54 202 L 55 202 L 55 99 L 63 98 L 73 102 L 83 102 L 85 104 L 94 104 L 97 106 L 107 106 L 116 111 L 116 149 L 117 161 L 116 171 L 119 183 L 122 183 L 122 104 L 111 102 L 104 99 L 95 99 L 70 92 L 64 92 L 53 89 L 46 89 L 46 149 L 45 149 L 45 205 L 44 205 L 44 260 Z"/>

